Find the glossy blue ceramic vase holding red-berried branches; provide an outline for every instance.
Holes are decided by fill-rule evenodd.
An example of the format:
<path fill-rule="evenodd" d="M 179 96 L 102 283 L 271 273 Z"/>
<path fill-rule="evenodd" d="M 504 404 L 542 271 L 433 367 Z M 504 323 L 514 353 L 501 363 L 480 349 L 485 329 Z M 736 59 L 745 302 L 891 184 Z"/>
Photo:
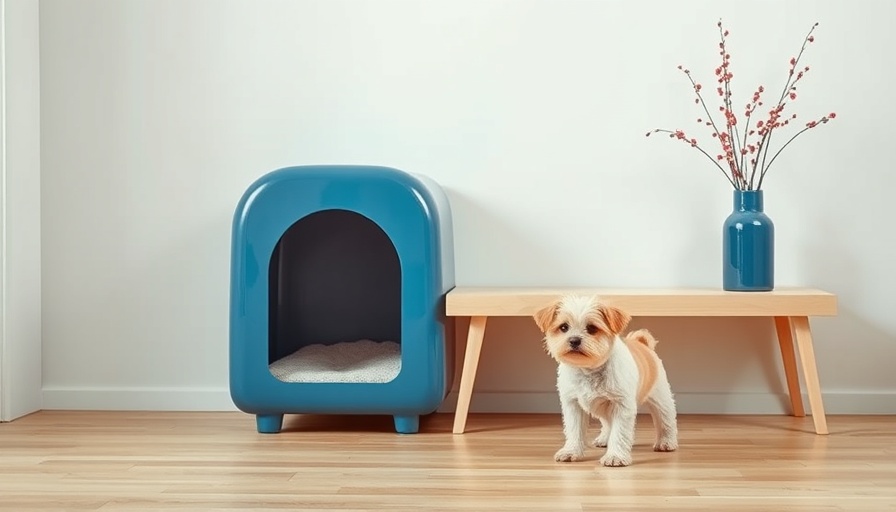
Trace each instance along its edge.
<path fill-rule="evenodd" d="M 725 290 L 775 288 L 775 225 L 763 211 L 761 190 L 734 191 L 734 210 L 722 227 L 722 244 Z"/>

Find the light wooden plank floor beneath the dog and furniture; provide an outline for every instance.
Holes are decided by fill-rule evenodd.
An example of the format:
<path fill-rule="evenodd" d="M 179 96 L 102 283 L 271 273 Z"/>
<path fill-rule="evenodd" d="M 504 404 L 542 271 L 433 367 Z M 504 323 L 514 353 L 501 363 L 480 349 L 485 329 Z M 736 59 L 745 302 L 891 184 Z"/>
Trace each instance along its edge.
<path fill-rule="evenodd" d="M 681 416 L 681 449 L 556 463 L 558 415 L 288 416 L 41 412 L 0 424 L 0 509 L 896 511 L 896 417 Z"/>

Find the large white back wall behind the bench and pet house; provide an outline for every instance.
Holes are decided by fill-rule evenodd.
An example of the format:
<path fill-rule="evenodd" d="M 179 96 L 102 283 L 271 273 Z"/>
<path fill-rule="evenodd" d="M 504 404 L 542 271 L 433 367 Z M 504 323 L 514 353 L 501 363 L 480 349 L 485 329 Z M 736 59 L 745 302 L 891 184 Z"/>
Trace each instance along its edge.
<path fill-rule="evenodd" d="M 892 2 L 44 0 L 44 405 L 232 408 L 229 228 L 256 177 L 312 163 L 425 173 L 454 210 L 458 284 L 721 284 L 730 186 L 651 128 L 695 129 L 719 16 L 738 101 L 836 111 L 776 163 L 779 285 L 814 321 L 828 412 L 896 412 Z M 704 138 L 705 134 L 703 135 Z M 684 412 L 786 410 L 770 322 L 638 319 Z M 473 410 L 554 411 L 534 324 L 488 329 Z M 446 403 L 451 407 L 452 401 Z"/>

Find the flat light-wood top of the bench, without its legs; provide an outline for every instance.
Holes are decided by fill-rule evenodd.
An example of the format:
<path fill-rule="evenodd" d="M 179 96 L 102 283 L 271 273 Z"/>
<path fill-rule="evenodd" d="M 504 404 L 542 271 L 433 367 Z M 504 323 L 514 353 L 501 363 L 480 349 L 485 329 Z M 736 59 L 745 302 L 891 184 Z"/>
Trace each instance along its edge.
<path fill-rule="evenodd" d="M 570 293 L 597 295 L 632 316 L 834 316 L 837 296 L 815 288 L 770 292 L 716 288 L 576 288 L 458 286 L 445 297 L 448 316 L 529 316 Z"/>

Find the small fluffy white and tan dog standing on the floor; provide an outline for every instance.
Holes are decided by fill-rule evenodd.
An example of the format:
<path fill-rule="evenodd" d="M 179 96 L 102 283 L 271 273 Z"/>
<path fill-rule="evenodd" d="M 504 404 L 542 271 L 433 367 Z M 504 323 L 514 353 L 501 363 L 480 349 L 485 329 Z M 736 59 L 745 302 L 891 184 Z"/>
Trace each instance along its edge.
<path fill-rule="evenodd" d="M 581 460 L 591 416 L 600 420 L 593 445 L 606 447 L 604 466 L 632 463 L 638 406 L 645 404 L 656 428 L 655 451 L 678 448 L 675 401 L 657 341 L 646 329 L 622 331 L 631 316 L 597 297 L 570 295 L 535 313 L 545 348 L 557 368 L 557 390 L 566 443 L 558 462 Z"/>

